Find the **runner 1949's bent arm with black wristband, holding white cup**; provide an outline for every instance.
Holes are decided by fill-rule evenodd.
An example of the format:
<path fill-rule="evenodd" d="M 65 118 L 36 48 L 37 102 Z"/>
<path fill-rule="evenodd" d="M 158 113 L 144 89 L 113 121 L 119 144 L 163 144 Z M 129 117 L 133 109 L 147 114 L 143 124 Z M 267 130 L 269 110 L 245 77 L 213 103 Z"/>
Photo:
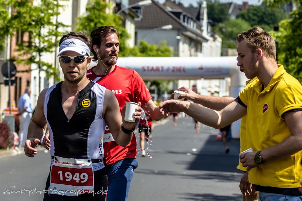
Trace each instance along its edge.
<path fill-rule="evenodd" d="M 105 119 L 107 126 L 117 144 L 122 147 L 126 147 L 131 139 L 132 133 L 130 135 L 124 133 L 121 130 L 121 125 L 123 123 L 124 128 L 131 130 L 137 124 L 140 119 L 142 108 L 141 103 L 138 102 L 139 106 L 135 111 L 135 122 L 126 122 L 124 120 L 126 106 L 123 107 L 122 113 L 123 117 L 120 115 L 120 106 L 112 91 L 106 89 L 103 105 L 103 118 Z"/>

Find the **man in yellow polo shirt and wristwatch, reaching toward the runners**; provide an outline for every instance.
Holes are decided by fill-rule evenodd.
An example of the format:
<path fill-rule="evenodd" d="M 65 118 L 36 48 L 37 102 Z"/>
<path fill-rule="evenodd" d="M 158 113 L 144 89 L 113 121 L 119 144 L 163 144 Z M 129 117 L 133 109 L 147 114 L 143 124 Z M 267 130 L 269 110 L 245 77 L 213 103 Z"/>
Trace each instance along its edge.
<path fill-rule="evenodd" d="M 276 43 L 255 27 L 237 36 L 238 67 L 251 81 L 221 111 L 180 100 L 166 100 L 160 112 L 184 111 L 197 121 L 222 128 L 246 116 L 246 142 L 253 152 L 240 155 L 261 201 L 302 201 L 302 86 L 277 65 Z"/>

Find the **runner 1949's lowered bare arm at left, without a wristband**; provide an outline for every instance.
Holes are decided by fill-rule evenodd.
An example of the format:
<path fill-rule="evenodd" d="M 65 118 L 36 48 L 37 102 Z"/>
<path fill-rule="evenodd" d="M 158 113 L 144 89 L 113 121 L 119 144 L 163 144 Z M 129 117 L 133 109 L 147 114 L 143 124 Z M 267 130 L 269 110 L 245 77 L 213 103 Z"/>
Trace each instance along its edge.
<path fill-rule="evenodd" d="M 46 128 L 46 119 L 44 116 L 44 98 L 47 90 L 48 89 L 44 89 L 40 93 L 37 100 L 36 111 L 28 127 L 28 139 L 26 140 L 24 146 L 25 155 L 28 157 L 34 157 L 34 155 L 37 154 L 35 147 L 43 136 L 43 129 Z"/>

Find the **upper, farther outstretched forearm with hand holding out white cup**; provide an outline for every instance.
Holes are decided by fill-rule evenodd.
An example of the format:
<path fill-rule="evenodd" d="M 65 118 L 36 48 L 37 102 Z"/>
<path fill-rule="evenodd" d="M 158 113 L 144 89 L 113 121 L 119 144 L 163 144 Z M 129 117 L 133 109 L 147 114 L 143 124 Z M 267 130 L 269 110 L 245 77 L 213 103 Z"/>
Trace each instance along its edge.
<path fill-rule="evenodd" d="M 217 97 L 217 96 L 199 95 L 187 87 L 181 87 L 178 90 L 186 92 L 186 94 L 179 95 L 180 98 L 186 98 L 188 100 L 192 100 L 194 103 L 199 103 L 205 107 L 217 111 L 222 110 L 223 108 L 225 108 L 227 105 L 229 105 L 231 102 L 235 100 L 235 98 L 227 97 L 227 96 Z"/>

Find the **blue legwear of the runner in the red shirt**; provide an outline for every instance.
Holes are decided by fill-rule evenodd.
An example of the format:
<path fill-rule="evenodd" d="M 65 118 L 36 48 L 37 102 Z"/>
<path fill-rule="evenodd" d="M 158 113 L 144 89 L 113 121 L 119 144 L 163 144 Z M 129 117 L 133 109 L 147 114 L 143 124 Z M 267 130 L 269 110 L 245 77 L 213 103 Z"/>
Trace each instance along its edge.
<path fill-rule="evenodd" d="M 107 201 L 126 201 L 130 189 L 130 182 L 137 168 L 135 158 L 125 158 L 106 166 L 108 177 Z"/>

